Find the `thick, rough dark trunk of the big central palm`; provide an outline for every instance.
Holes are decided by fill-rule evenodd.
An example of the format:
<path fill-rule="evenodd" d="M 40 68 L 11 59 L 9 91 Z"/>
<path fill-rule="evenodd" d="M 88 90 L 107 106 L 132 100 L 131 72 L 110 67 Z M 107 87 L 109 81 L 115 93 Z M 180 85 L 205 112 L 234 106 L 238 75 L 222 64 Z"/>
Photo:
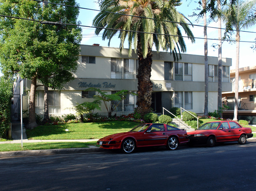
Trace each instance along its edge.
<path fill-rule="evenodd" d="M 151 77 L 151 65 L 152 65 L 152 49 L 148 46 L 148 54 L 146 58 L 143 58 L 141 43 L 138 40 L 137 55 L 139 57 L 138 68 L 138 91 L 137 91 L 137 106 L 138 112 L 144 117 L 146 113 L 151 111 L 152 89 L 153 84 L 150 81 Z"/>

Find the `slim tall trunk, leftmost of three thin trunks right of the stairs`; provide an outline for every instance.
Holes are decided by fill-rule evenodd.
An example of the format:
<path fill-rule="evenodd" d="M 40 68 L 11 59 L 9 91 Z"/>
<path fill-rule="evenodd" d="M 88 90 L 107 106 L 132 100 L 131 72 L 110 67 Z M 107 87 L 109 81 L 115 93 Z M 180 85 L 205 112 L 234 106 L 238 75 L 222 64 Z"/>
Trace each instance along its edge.
<path fill-rule="evenodd" d="M 202 0 L 203 9 L 206 8 L 206 0 Z M 206 12 L 204 13 L 204 115 L 208 115 L 208 41 L 206 27 Z"/>

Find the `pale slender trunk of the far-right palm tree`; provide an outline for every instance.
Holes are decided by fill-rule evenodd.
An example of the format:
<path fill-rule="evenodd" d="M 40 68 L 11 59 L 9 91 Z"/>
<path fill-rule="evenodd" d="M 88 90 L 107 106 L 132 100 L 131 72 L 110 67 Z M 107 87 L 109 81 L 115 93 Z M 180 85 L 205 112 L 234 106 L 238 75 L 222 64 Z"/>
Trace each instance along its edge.
<path fill-rule="evenodd" d="M 234 121 L 237 121 L 238 113 L 238 80 L 239 80 L 239 43 L 240 33 L 239 30 L 236 32 L 236 74 L 235 74 L 235 107 L 234 107 Z"/>

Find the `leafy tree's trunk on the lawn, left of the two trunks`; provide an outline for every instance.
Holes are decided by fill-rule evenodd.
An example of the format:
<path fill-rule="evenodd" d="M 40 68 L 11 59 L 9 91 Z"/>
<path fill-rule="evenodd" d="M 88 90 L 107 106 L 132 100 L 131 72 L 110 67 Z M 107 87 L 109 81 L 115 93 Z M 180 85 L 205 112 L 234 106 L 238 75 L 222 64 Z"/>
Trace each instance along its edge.
<path fill-rule="evenodd" d="M 37 78 L 34 76 L 32 78 L 31 87 L 30 87 L 30 96 L 29 96 L 29 105 L 28 105 L 28 129 L 33 129 L 37 127 L 37 123 L 35 121 L 35 90 L 37 88 Z"/>

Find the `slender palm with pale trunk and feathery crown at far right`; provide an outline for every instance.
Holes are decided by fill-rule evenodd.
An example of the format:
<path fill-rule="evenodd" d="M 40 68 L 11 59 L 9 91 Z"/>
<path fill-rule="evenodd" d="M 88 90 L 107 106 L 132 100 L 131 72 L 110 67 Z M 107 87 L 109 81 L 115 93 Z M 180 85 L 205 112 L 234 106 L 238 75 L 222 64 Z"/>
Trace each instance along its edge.
<path fill-rule="evenodd" d="M 235 108 L 234 118 L 237 120 L 238 111 L 238 79 L 239 79 L 239 41 L 240 30 L 256 24 L 256 0 L 237 0 L 236 5 L 227 5 L 223 10 L 223 20 L 231 30 L 236 30 L 236 74 L 235 74 Z"/>

